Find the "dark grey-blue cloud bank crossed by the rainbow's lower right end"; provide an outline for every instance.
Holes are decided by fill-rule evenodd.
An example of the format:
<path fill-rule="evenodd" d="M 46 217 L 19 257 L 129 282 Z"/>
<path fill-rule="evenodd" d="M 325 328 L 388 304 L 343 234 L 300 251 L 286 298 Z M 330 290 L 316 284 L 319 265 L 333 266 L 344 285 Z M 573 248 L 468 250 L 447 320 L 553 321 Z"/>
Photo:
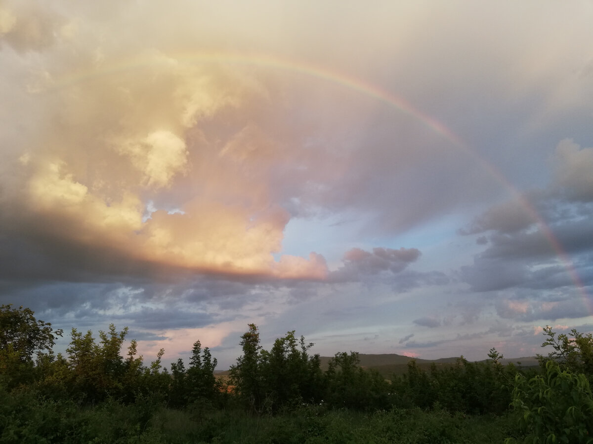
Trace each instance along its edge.
<path fill-rule="evenodd" d="M 582 156 L 581 162 L 573 156 Z M 554 179 L 545 188 L 493 205 L 458 230 L 464 236 L 489 232 L 477 237 L 485 248 L 474 255 L 473 265 L 461 266 L 461 280 L 479 292 L 590 285 L 593 207 L 585 198 L 588 176 L 580 169 L 587 157 L 586 149 L 562 141 L 554 155 Z M 577 195 L 579 200 L 571 201 Z"/>

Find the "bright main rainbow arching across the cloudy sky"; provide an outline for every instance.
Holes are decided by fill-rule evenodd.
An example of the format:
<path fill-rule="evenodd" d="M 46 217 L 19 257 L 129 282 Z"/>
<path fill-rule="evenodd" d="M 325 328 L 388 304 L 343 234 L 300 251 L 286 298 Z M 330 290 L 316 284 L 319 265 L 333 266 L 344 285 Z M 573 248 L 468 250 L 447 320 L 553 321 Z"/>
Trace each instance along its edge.
<path fill-rule="evenodd" d="M 323 66 L 312 65 L 310 63 L 303 62 L 302 60 L 291 60 L 279 56 L 270 56 L 269 54 L 203 51 L 160 55 L 162 55 L 163 60 L 168 60 L 171 63 L 183 61 L 184 63 L 194 63 L 200 65 L 208 63 L 221 66 L 259 66 L 266 69 L 282 70 L 290 73 L 300 73 L 308 77 L 320 79 L 321 81 L 330 82 L 358 92 L 359 94 L 387 104 L 401 113 L 408 115 L 410 118 L 421 122 L 424 126 L 429 128 L 429 130 L 439 134 L 445 140 L 449 141 L 458 150 L 461 150 L 466 155 L 471 156 L 484 170 L 486 170 L 493 178 L 495 178 L 496 181 L 498 181 L 515 200 L 517 200 L 522 205 L 524 210 L 537 223 L 541 233 L 543 233 L 547 242 L 550 244 L 560 261 L 565 266 L 570 278 L 581 293 L 584 304 L 588 308 L 588 313 L 593 313 L 593 301 L 591 301 L 591 298 L 587 294 L 585 285 L 579 277 L 572 260 L 569 258 L 568 253 L 566 253 L 562 243 L 560 243 L 557 237 L 554 236 L 553 231 L 546 224 L 534 206 L 531 205 L 527 198 L 525 198 L 524 195 L 517 188 L 515 188 L 511 182 L 508 181 L 508 179 L 506 179 L 499 169 L 487 162 L 487 160 L 480 156 L 476 150 L 472 149 L 463 139 L 461 139 L 461 137 L 455 134 L 441 121 L 414 107 L 406 99 L 394 95 L 391 92 L 379 88 L 377 85 L 365 82 L 362 79 L 356 78 L 355 76 L 349 75 L 347 73 L 337 72 L 327 69 Z M 93 81 L 95 78 L 116 75 L 118 73 L 130 72 L 145 67 L 150 67 L 151 61 L 154 61 L 154 59 L 151 59 L 149 56 L 154 56 L 154 53 L 132 59 L 122 60 L 121 62 L 112 63 L 109 66 L 100 67 L 98 69 L 93 67 L 91 69 L 74 72 L 70 75 L 63 76 L 62 78 L 58 79 L 58 81 L 53 82 L 52 85 L 49 86 L 49 88 L 45 88 L 44 91 L 56 91 L 62 88 L 68 88 L 69 86 L 75 85 L 76 83 Z"/>

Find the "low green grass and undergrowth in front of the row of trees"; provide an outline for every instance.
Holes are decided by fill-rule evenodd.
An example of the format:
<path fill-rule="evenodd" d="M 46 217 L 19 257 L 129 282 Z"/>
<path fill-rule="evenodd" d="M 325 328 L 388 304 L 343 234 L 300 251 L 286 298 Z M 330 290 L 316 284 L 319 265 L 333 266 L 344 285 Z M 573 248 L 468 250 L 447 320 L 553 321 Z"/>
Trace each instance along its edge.
<path fill-rule="evenodd" d="M 500 443 L 515 417 L 449 414 L 442 408 L 374 412 L 306 405 L 275 416 L 218 409 L 196 419 L 189 410 L 109 398 L 94 407 L 0 390 L 0 442 L 6 443 Z"/>

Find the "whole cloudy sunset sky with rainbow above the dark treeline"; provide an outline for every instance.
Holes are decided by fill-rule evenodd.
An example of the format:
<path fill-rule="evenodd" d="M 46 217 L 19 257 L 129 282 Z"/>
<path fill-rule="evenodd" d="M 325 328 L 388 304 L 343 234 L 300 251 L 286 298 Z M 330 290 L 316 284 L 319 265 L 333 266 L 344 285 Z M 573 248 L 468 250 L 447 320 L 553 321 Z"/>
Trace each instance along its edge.
<path fill-rule="evenodd" d="M 145 361 L 593 331 L 589 1 L 0 0 L 0 303 Z"/>

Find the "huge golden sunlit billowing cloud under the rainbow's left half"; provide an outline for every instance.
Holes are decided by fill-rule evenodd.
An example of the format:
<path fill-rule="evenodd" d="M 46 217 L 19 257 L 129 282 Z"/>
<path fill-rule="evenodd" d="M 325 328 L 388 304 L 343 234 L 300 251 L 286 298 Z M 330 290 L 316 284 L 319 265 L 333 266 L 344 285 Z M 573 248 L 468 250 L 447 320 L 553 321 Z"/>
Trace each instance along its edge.
<path fill-rule="evenodd" d="M 273 140 L 248 121 L 222 140 L 206 134 L 204 120 L 262 96 L 257 82 L 157 51 L 142 55 L 141 76 L 103 75 L 101 66 L 119 63 L 109 49 L 96 66 L 71 61 L 79 76 L 99 73 L 92 88 L 66 77 L 59 89 L 52 75 L 37 93 L 55 117 L 18 157 L 24 192 L 7 205 L 20 212 L 4 223 L 132 261 L 323 279 L 321 255 L 273 257 L 289 220 L 266 181 Z"/>

